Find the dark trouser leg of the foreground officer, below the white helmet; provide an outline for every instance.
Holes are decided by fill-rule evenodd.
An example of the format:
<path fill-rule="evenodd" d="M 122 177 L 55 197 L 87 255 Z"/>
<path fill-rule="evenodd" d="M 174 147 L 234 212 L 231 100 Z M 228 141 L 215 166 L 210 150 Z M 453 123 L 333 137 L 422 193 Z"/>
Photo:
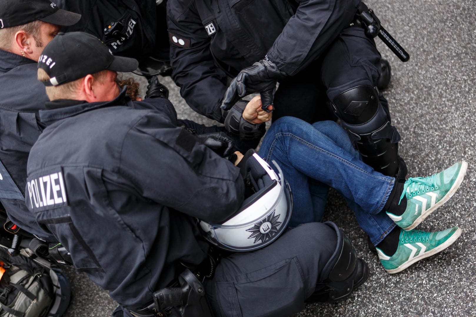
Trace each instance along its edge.
<path fill-rule="evenodd" d="M 304 300 L 327 276 L 337 233 L 323 223 L 306 223 L 263 249 L 222 259 L 206 284 L 216 317 L 285 317 L 304 309 Z M 327 273 L 328 274 L 328 273 Z"/>

